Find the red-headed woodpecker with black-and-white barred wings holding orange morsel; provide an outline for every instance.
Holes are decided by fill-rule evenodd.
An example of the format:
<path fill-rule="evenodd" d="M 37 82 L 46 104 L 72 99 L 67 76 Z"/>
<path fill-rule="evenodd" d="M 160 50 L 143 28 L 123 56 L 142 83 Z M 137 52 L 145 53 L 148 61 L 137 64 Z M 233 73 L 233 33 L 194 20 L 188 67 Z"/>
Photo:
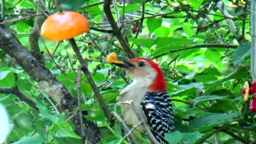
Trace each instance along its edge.
<path fill-rule="evenodd" d="M 107 62 L 125 68 L 133 76 L 133 82 L 121 91 L 119 102 L 132 100 L 138 112 L 145 116 L 156 140 L 159 143 L 167 143 L 164 135 L 174 131 L 174 117 L 162 70 L 149 59 L 125 59 L 115 53 L 108 55 Z M 126 123 L 133 126 L 140 123 L 131 106 L 120 106 Z"/>

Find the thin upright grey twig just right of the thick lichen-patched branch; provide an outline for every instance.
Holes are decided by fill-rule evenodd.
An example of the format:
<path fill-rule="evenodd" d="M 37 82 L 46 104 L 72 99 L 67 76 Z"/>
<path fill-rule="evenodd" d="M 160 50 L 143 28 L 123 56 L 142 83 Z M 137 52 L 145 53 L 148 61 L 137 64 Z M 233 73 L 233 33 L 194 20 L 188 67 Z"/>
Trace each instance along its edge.
<path fill-rule="evenodd" d="M 80 118 L 80 128 L 82 133 L 82 143 L 85 143 L 85 132 L 83 129 L 83 115 L 82 115 L 82 106 L 81 106 L 81 65 L 78 65 L 77 68 L 77 105 L 78 105 L 78 114 Z"/>

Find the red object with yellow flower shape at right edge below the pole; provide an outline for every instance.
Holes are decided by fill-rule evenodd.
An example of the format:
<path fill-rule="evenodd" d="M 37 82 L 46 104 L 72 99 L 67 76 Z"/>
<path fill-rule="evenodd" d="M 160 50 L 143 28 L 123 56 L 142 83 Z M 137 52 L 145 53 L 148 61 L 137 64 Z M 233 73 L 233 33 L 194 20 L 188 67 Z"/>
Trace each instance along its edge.
<path fill-rule="evenodd" d="M 248 82 L 244 83 L 244 87 L 242 89 L 242 93 L 244 94 L 244 101 L 249 101 L 249 95 L 256 93 L 256 82 L 252 82 L 252 86 L 249 87 Z M 256 98 L 252 97 L 252 101 L 250 103 L 250 111 L 256 112 Z"/>

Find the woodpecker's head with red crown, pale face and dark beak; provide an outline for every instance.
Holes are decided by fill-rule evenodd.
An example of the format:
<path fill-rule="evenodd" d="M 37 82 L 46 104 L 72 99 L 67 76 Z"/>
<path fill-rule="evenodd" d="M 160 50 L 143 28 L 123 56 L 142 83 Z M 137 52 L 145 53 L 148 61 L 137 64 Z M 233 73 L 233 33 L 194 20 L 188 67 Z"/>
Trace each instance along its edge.
<path fill-rule="evenodd" d="M 134 58 L 125 59 L 117 56 L 117 62 L 110 62 L 125 68 L 132 74 L 134 81 L 140 81 L 151 92 L 166 90 L 166 83 L 162 70 L 149 59 Z"/>

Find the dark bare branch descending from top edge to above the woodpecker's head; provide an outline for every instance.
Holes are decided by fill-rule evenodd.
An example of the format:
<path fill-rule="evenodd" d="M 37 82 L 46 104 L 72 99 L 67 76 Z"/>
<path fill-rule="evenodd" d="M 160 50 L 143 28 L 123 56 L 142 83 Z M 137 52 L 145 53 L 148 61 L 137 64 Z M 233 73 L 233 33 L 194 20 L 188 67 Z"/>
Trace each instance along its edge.
<path fill-rule="evenodd" d="M 110 10 L 110 4 L 111 1 L 110 0 L 104 0 L 104 6 L 103 6 L 103 10 L 106 14 L 106 17 L 112 27 L 113 34 L 116 35 L 119 43 L 121 44 L 121 46 L 123 47 L 123 50 L 125 51 L 125 53 L 127 54 L 127 56 L 129 58 L 134 58 L 134 53 L 132 52 L 131 47 L 129 46 L 129 44 L 125 41 L 125 38 L 123 37 L 121 30 L 118 28 L 115 19 L 113 18 L 113 15 L 111 13 Z"/>

